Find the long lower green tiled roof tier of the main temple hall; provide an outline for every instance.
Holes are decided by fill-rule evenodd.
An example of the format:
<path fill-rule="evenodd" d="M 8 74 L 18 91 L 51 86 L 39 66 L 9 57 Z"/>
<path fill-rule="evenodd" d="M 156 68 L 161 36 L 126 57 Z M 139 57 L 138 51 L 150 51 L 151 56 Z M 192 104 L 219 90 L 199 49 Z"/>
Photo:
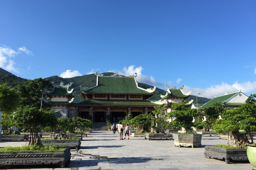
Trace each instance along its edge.
<path fill-rule="evenodd" d="M 88 99 L 81 103 L 74 103 L 76 106 L 159 106 L 147 100 L 104 100 Z"/>

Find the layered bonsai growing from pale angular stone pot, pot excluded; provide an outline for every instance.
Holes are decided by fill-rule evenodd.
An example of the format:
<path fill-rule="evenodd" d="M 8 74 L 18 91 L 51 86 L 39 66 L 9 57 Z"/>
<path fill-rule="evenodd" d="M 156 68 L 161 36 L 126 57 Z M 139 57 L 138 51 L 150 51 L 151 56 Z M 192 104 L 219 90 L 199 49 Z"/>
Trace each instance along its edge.
<path fill-rule="evenodd" d="M 182 132 L 188 131 L 187 127 L 193 126 L 193 117 L 197 116 L 196 109 L 187 108 L 188 101 L 182 100 L 180 104 L 172 105 L 174 112 L 168 113 L 168 118 L 175 118 L 170 124 L 182 128 Z"/>

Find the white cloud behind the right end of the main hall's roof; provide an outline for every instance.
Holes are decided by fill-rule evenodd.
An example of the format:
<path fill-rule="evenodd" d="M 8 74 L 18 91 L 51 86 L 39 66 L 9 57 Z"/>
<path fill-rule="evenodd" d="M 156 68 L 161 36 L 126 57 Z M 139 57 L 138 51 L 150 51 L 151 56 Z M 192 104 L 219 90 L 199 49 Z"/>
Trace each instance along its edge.
<path fill-rule="evenodd" d="M 142 66 L 139 66 L 136 68 L 134 68 L 134 67 L 135 67 L 134 65 L 131 65 L 128 68 L 124 67 L 122 69 L 122 71 L 112 70 L 111 72 L 117 71 L 118 74 L 124 75 L 124 76 L 130 76 L 130 75 L 133 75 L 134 73 L 137 73 L 136 80 L 140 83 L 146 83 L 146 84 L 155 85 L 155 86 L 162 85 L 162 83 L 157 82 L 154 77 L 150 76 L 148 78 L 148 76 L 143 75 L 142 74 L 142 70 L 143 70 Z"/>

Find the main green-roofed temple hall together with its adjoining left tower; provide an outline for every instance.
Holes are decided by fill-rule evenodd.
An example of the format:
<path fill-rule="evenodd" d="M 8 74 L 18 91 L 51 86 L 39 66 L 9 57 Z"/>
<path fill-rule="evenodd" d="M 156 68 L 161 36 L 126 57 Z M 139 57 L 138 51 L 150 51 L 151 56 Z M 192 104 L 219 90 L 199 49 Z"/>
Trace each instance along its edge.
<path fill-rule="evenodd" d="M 135 117 L 139 114 L 150 113 L 154 106 L 162 105 L 161 102 L 147 100 L 154 95 L 156 87 L 143 89 L 138 87 L 135 79 L 137 74 L 129 77 L 121 76 L 115 72 L 112 76 L 95 73 L 97 84 L 94 87 L 80 87 L 84 101 L 76 101 L 73 89 L 69 91 L 72 83 L 64 86 L 53 84 L 52 91 L 46 91 L 51 101 L 44 99 L 46 105 L 53 110 L 58 118 L 92 117 L 93 122 L 106 122 L 107 118 L 120 121 L 132 113 Z"/>

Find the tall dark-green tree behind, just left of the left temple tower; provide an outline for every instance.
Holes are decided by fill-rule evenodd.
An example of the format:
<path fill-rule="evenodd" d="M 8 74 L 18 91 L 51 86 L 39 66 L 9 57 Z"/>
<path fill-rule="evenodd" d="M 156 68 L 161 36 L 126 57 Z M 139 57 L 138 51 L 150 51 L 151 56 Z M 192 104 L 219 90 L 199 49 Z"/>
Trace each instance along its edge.
<path fill-rule="evenodd" d="M 51 87 L 49 79 L 37 78 L 34 80 L 28 80 L 24 84 L 18 85 L 18 92 L 21 97 L 20 106 L 30 106 L 40 109 L 42 92 L 46 87 Z"/>

